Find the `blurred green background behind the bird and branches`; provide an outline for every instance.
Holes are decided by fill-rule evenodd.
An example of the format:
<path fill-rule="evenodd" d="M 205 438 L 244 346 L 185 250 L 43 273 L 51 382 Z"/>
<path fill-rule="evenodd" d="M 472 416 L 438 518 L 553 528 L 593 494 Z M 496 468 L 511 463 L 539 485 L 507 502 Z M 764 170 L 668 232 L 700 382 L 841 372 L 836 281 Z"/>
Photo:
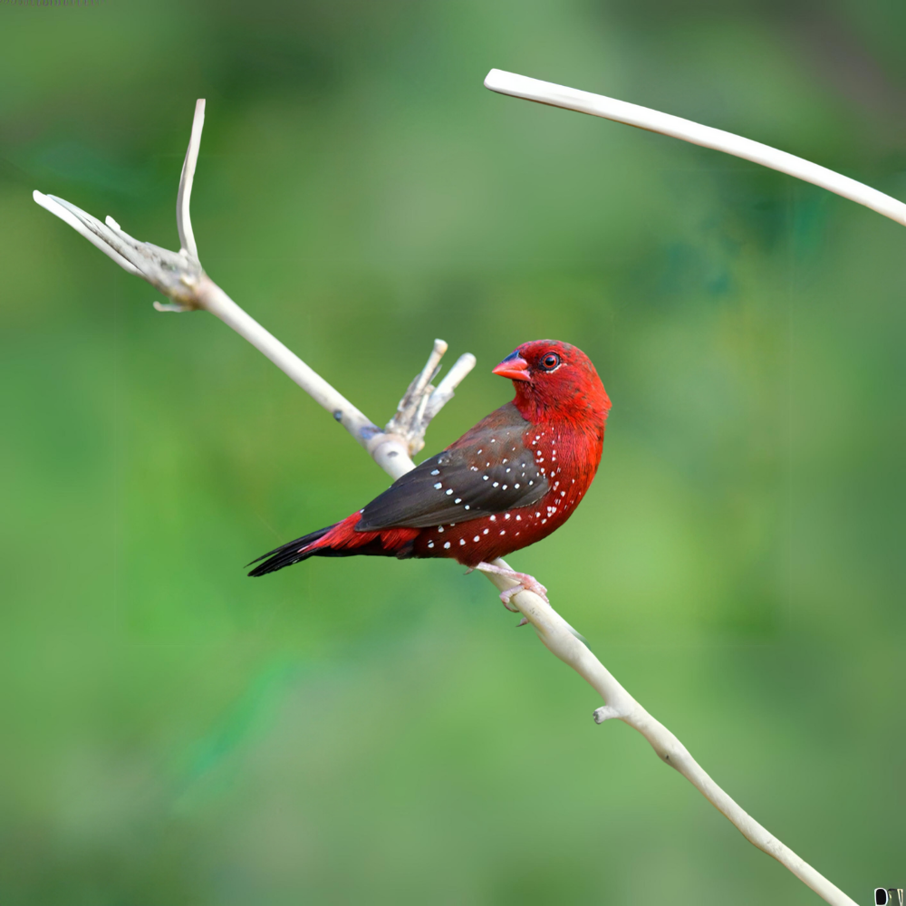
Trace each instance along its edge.
<path fill-rule="evenodd" d="M 613 400 L 515 554 L 619 679 L 859 902 L 906 884 L 903 227 L 482 87 L 498 67 L 906 198 L 897 2 L 0 8 L 0 901 L 814 903 L 443 562 L 243 564 L 387 478 L 204 314 L 34 205 L 177 246 L 372 419 L 435 336 L 441 448 L 553 336 Z"/>

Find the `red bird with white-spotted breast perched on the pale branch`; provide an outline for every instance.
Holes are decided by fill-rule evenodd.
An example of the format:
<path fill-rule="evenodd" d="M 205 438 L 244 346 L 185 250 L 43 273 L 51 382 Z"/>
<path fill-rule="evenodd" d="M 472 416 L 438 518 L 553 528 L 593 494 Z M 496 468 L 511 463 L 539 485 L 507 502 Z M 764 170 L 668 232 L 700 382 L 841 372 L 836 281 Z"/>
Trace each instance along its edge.
<path fill-rule="evenodd" d="M 536 340 L 494 369 L 516 399 L 437 456 L 397 478 L 368 506 L 253 561 L 265 575 L 312 556 L 449 557 L 518 581 L 509 599 L 545 588 L 491 563 L 559 528 L 592 484 L 611 400 L 584 352 Z M 265 559 L 266 558 L 266 559 Z"/>

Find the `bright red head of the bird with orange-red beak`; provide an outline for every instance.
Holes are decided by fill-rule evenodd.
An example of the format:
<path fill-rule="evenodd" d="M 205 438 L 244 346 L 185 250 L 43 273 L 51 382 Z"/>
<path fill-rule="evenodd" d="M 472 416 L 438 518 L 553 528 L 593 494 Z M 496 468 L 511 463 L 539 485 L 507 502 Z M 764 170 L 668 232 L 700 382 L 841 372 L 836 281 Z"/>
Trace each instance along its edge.
<path fill-rule="evenodd" d="M 568 342 L 525 342 L 506 356 L 494 373 L 512 379 L 516 408 L 530 421 L 554 412 L 603 420 L 611 408 L 592 361 Z"/>

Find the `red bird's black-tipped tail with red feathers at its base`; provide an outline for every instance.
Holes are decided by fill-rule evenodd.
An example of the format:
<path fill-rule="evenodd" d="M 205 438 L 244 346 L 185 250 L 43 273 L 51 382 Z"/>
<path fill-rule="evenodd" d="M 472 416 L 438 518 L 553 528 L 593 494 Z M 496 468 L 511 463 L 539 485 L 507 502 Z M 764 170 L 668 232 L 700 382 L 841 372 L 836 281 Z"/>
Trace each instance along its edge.
<path fill-rule="evenodd" d="M 360 518 L 358 512 L 353 513 L 342 522 L 319 528 L 316 532 L 280 545 L 253 560 L 252 564 L 262 560 L 264 563 L 255 566 L 248 574 L 258 576 L 275 573 L 284 566 L 292 566 L 309 557 L 350 557 L 370 554 L 405 558 L 411 555 L 411 542 L 415 535 L 419 534 L 418 529 L 397 528 L 381 532 L 356 532 L 355 525 Z"/>

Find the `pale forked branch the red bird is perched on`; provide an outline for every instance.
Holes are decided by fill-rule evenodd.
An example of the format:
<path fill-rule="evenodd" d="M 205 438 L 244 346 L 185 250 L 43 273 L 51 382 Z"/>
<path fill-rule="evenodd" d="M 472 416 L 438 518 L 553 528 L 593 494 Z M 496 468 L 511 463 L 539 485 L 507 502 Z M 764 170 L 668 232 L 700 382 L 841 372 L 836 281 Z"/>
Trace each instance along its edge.
<path fill-rule="evenodd" d="M 204 120 L 204 101 L 198 101 L 192 137 L 189 141 L 186 162 L 183 165 L 179 184 L 177 218 L 182 248 L 178 253 L 141 243 L 123 233 L 120 226 L 110 217 L 101 224 L 80 208 L 63 201 L 62 198 L 34 193 L 34 200 L 51 213 L 60 217 L 93 245 L 110 255 L 130 274 L 137 274 L 156 286 L 162 293 L 174 299 L 175 305 L 156 304 L 159 311 L 189 311 L 203 309 L 217 315 L 221 321 L 232 327 L 236 333 L 264 352 L 268 359 L 286 372 L 303 390 L 309 393 L 324 409 L 333 414 L 352 437 L 366 448 L 371 457 L 391 477 L 400 477 L 415 463 L 411 454 L 424 446 L 424 434 L 430 420 L 441 407 L 452 398 L 453 390 L 475 365 L 475 357 L 463 355 L 440 381 L 437 388 L 431 386 L 440 361 L 447 350 L 447 343 L 434 342 L 425 367 L 410 384 L 396 414 L 387 428 L 381 431 L 370 419 L 356 409 L 337 390 L 308 367 L 294 352 L 265 331 L 254 318 L 244 312 L 226 293 L 220 289 L 202 270 L 198 261 L 195 239 L 192 234 L 189 215 L 191 183 L 198 159 L 198 144 L 201 140 L 201 124 Z M 496 564 L 506 567 L 503 560 Z M 515 583 L 503 576 L 484 573 L 500 591 Z M 808 884 L 815 892 L 834 906 L 856 906 L 842 891 L 834 887 L 818 872 L 804 863 L 783 843 L 767 833 L 765 828 L 744 812 L 714 781 L 679 742 L 670 730 L 641 707 L 629 692 L 613 678 L 591 651 L 573 635 L 570 625 L 540 597 L 531 592 L 517 593 L 512 602 L 530 622 L 538 638 L 560 660 L 576 670 L 602 696 L 606 704 L 594 712 L 598 723 L 608 718 L 620 718 L 639 732 L 651 743 L 658 755 L 670 766 L 675 767 L 694 784 L 708 801 L 745 834 L 747 839 Z"/>

